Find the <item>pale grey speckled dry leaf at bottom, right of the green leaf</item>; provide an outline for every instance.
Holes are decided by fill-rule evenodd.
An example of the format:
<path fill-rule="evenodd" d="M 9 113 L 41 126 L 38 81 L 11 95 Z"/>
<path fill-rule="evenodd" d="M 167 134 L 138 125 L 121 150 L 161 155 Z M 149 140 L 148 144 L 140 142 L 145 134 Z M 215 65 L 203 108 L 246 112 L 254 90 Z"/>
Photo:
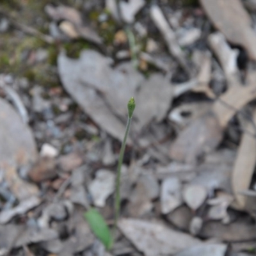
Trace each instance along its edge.
<path fill-rule="evenodd" d="M 202 243 L 199 239 L 154 221 L 122 219 L 118 221 L 118 227 L 145 256 L 173 255 Z"/>

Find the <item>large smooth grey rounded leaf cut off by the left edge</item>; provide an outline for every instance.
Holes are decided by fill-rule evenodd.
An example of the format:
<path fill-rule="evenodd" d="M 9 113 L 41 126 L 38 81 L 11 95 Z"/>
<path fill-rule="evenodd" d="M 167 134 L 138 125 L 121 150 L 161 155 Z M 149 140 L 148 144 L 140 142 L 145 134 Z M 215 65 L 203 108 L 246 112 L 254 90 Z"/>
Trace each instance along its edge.
<path fill-rule="evenodd" d="M 6 100 L 0 99 L 0 168 L 34 162 L 37 151 L 33 134 Z"/>

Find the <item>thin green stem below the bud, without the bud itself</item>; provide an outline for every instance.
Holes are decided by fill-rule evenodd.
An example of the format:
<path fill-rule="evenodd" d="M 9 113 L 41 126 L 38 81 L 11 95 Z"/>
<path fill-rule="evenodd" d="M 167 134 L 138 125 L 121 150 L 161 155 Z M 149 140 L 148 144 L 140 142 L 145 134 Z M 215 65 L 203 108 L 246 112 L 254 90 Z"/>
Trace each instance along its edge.
<path fill-rule="evenodd" d="M 120 179 L 121 179 L 121 168 L 122 168 L 122 163 L 123 163 L 123 159 L 124 159 L 124 150 L 125 150 L 126 140 L 127 140 L 128 134 L 129 134 L 130 126 L 131 126 L 131 120 L 132 120 L 132 118 L 128 117 L 126 129 L 125 129 L 124 140 L 122 142 L 122 147 L 121 147 L 120 154 L 119 154 L 119 159 L 118 159 L 117 176 L 116 176 L 114 234 L 116 232 L 117 221 L 118 221 L 118 218 L 119 218 L 119 215 L 120 215 Z"/>

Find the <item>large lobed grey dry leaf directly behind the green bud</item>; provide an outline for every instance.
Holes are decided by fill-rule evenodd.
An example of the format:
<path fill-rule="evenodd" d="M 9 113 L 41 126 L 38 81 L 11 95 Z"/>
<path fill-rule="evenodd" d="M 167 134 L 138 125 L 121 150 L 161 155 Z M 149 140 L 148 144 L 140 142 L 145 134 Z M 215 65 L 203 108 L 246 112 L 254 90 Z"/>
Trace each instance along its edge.
<path fill-rule="evenodd" d="M 78 60 L 64 54 L 58 57 L 61 81 L 67 92 L 96 124 L 122 141 L 125 124 L 117 116 L 126 118 L 125 102 L 134 96 L 132 128 L 140 132 L 152 120 L 163 120 L 172 102 L 172 87 L 162 74 L 145 79 L 131 63 L 116 68 L 110 67 L 110 63 L 109 58 L 92 50 L 83 51 Z"/>

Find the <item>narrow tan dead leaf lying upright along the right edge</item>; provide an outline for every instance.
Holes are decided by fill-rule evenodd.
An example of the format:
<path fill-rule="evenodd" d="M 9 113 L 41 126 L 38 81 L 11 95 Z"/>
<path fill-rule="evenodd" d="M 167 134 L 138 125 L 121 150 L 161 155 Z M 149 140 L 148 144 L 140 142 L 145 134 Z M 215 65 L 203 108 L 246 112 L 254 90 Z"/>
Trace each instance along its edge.
<path fill-rule="evenodd" d="M 256 111 L 254 110 L 252 122 L 256 122 Z M 252 123 L 248 123 L 245 131 L 255 133 Z M 241 191 L 249 188 L 256 163 L 256 140 L 250 134 L 244 132 L 237 151 L 236 161 L 232 171 L 232 190 L 235 196 L 233 204 L 236 209 L 244 210 L 246 207 L 246 196 Z"/>

